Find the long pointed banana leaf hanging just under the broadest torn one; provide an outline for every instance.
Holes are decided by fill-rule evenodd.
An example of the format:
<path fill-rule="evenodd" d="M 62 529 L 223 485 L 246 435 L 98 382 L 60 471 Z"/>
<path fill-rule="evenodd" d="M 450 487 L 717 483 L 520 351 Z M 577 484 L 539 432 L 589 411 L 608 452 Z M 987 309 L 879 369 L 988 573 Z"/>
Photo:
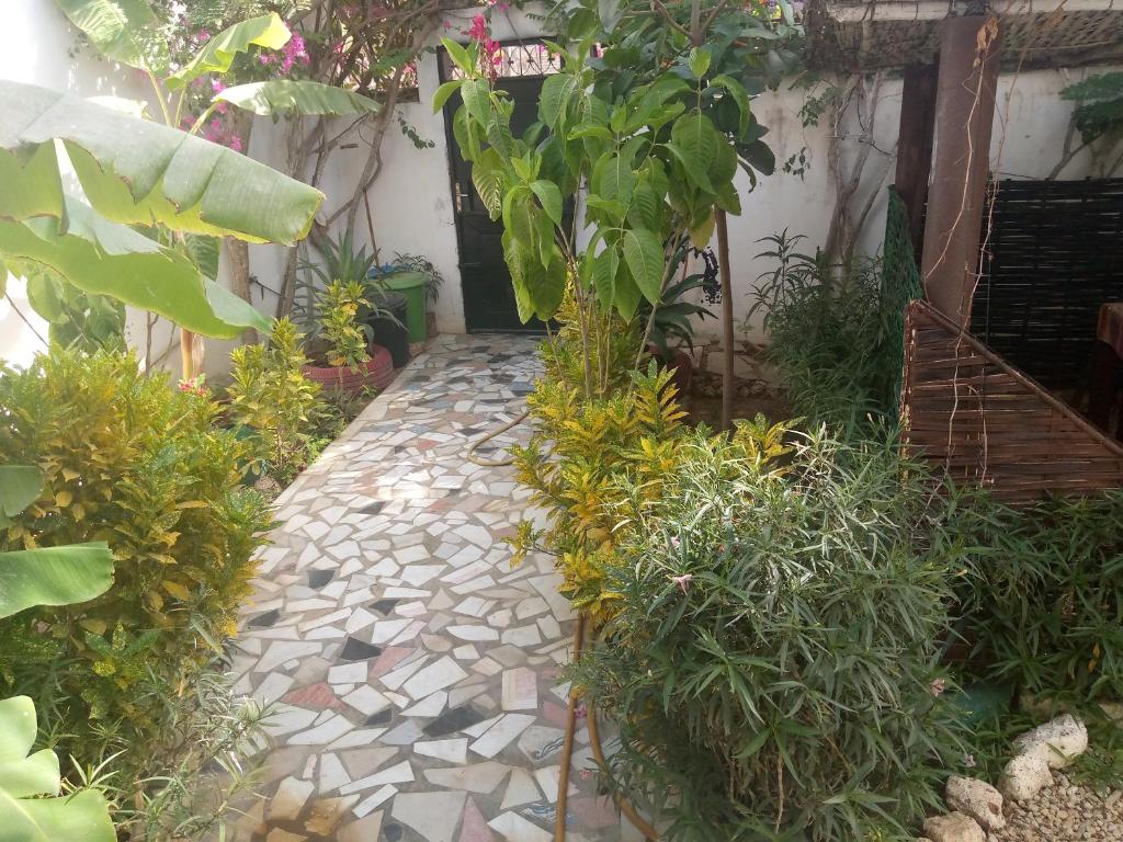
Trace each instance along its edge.
<path fill-rule="evenodd" d="M 67 196 L 65 222 L 53 217 L 0 217 L 0 255 L 49 266 L 86 292 L 167 317 L 203 336 L 232 339 L 246 328 L 270 332 L 265 315 L 213 281 L 182 254 L 128 226 L 102 219 Z"/>

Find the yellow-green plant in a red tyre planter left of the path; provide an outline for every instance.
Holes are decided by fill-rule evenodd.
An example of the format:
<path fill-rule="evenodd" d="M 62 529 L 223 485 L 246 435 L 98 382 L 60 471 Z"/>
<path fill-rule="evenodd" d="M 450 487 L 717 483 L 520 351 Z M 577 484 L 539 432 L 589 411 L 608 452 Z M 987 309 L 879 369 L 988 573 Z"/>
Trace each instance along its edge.
<path fill-rule="evenodd" d="M 358 320 L 359 308 L 368 304 L 365 293 L 359 281 L 337 280 L 317 296 L 318 330 L 309 342 L 305 377 L 348 394 L 383 388 L 394 378 L 390 351 L 374 345 L 369 326 Z"/>

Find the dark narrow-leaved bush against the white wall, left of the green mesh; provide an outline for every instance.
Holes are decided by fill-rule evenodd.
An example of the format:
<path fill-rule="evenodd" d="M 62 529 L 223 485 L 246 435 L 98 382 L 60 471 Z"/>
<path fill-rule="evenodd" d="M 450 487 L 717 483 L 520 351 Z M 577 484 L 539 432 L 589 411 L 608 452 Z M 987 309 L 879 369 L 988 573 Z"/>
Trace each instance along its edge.
<path fill-rule="evenodd" d="M 776 262 L 763 275 L 749 319 L 764 313 L 768 359 L 795 414 L 861 436 L 896 422 L 901 312 L 911 298 L 880 260 L 832 267 L 796 250 L 802 237 L 767 237 Z M 837 276 L 836 276 L 837 272 Z M 748 326 L 746 326 L 748 329 Z"/>

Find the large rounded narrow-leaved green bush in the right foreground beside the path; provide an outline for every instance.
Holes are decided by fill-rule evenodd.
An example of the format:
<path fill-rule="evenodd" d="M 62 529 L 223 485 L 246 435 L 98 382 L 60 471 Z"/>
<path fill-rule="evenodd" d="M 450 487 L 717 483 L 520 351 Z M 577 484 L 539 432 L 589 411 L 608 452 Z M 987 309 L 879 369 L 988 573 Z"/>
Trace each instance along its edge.
<path fill-rule="evenodd" d="M 613 784 L 672 840 L 911 839 L 964 762 L 939 666 L 953 553 L 892 447 L 768 457 L 764 434 L 687 436 L 659 502 L 629 506 L 622 598 L 577 668 L 621 723 Z"/>

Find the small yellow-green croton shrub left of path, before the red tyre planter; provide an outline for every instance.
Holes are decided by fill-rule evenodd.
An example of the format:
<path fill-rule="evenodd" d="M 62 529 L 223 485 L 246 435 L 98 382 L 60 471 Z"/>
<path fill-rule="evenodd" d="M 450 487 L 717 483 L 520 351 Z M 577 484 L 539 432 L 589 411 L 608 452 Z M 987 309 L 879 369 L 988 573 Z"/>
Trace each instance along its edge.
<path fill-rule="evenodd" d="M 311 461 L 311 431 L 323 412 L 320 385 L 303 374 L 308 357 L 302 339 L 289 319 L 279 319 L 268 342 L 244 345 L 230 354 L 230 417 L 255 433 L 255 473 L 267 472 L 281 485 Z"/>

